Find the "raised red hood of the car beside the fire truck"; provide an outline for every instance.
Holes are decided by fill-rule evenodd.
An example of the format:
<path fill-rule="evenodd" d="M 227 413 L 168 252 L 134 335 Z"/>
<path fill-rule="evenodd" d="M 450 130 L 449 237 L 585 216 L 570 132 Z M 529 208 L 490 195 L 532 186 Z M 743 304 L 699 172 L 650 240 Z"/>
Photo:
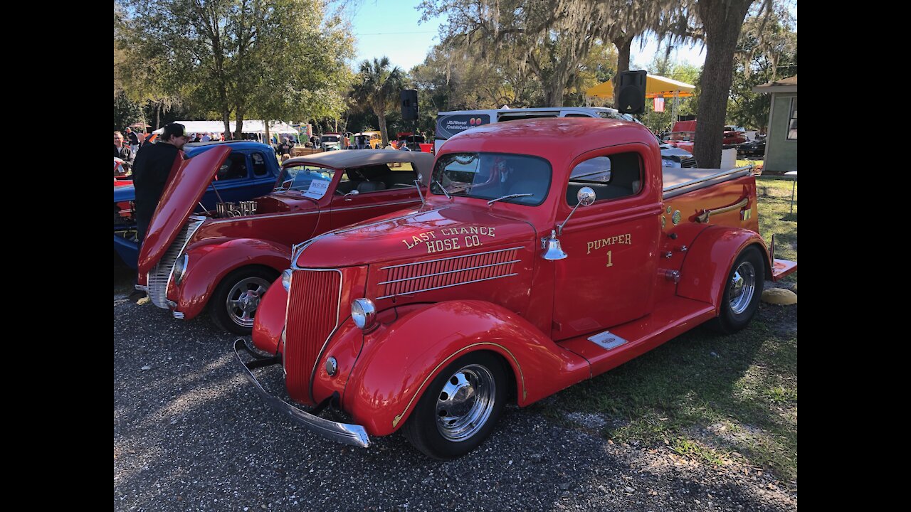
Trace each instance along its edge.
<path fill-rule="evenodd" d="M 138 272 L 148 273 L 168 251 L 180 229 L 200 202 L 215 173 L 228 159 L 230 148 L 211 148 L 171 169 L 168 185 L 161 194 L 159 206 L 148 223 L 146 239 L 139 250 Z"/>

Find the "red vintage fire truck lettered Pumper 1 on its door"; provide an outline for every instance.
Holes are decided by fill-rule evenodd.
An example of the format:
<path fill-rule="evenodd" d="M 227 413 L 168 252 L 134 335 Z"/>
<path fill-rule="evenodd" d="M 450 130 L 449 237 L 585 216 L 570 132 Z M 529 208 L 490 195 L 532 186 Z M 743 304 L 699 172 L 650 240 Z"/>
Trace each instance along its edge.
<path fill-rule="evenodd" d="M 234 344 L 262 396 L 316 433 L 367 446 L 402 430 L 428 456 L 462 456 L 507 400 L 532 404 L 701 323 L 738 331 L 765 279 L 797 268 L 757 232 L 750 168 L 662 168 L 627 121 L 467 130 L 426 185 L 420 208 L 296 245 L 255 346 Z M 266 392 L 252 370 L 268 365 L 315 408 Z"/>

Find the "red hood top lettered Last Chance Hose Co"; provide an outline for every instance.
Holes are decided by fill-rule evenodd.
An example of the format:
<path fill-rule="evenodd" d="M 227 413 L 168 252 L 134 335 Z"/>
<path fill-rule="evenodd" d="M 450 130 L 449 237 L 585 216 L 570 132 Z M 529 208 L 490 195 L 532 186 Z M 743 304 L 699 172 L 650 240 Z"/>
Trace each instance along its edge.
<path fill-rule="evenodd" d="M 401 210 L 330 231 L 298 246 L 294 261 L 303 268 L 407 262 L 485 251 L 535 238 L 535 230 L 525 220 L 458 203 L 432 210 Z"/>

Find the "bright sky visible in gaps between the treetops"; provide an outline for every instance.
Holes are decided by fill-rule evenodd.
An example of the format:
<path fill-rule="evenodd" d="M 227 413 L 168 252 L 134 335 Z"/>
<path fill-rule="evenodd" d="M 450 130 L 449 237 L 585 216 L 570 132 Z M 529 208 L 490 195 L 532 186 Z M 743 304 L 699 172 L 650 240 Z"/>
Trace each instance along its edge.
<path fill-rule="evenodd" d="M 435 18 L 420 25 L 421 13 L 415 6 L 420 0 L 360 0 L 348 8 L 356 38 L 353 67 L 365 58 L 388 56 L 389 61 L 405 71 L 424 62 L 431 47 L 439 43 L 437 29 L 445 18 Z M 658 49 L 654 38 L 650 38 L 640 50 L 639 39 L 632 45 L 633 67 L 645 67 L 651 62 Z M 690 48 L 681 46 L 671 51 L 670 58 L 678 62 L 689 62 L 701 66 L 705 52 L 701 44 Z"/>

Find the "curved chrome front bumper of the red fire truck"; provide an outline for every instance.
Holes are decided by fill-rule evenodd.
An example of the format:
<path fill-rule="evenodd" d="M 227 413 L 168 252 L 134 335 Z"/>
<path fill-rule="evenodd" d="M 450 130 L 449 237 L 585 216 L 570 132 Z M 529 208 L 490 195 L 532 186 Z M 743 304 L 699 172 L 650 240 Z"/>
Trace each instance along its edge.
<path fill-rule="evenodd" d="M 251 354 L 254 361 L 244 363 L 243 359 L 241 359 L 241 350 Z M 367 431 L 364 430 L 363 426 L 333 422 L 317 415 L 312 415 L 281 400 L 281 398 L 269 394 L 269 392 L 263 389 L 260 382 L 253 376 L 251 370 L 261 366 L 281 364 L 281 356 L 263 357 L 259 353 L 254 352 L 243 338 L 238 338 L 237 341 L 234 342 L 234 355 L 237 356 L 238 363 L 243 366 L 244 376 L 247 377 L 250 384 L 253 384 L 253 387 L 256 388 L 256 391 L 260 393 L 262 398 L 281 413 L 291 416 L 292 420 L 298 425 L 302 425 L 314 434 L 322 435 L 323 437 L 327 437 L 345 445 L 355 445 L 363 448 L 370 445 L 370 437 L 367 435 Z M 322 410 L 324 406 L 325 404 L 318 405 L 316 409 Z"/>

